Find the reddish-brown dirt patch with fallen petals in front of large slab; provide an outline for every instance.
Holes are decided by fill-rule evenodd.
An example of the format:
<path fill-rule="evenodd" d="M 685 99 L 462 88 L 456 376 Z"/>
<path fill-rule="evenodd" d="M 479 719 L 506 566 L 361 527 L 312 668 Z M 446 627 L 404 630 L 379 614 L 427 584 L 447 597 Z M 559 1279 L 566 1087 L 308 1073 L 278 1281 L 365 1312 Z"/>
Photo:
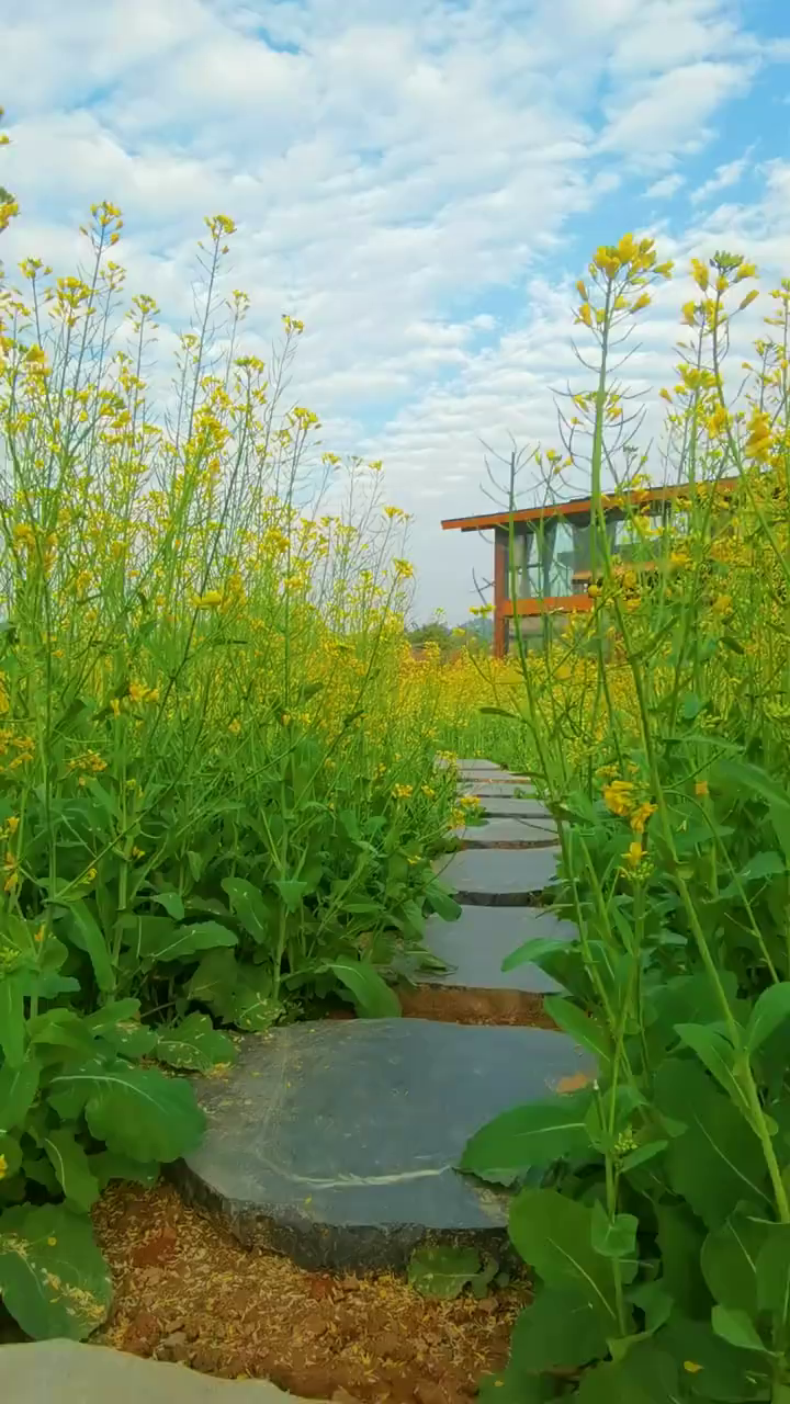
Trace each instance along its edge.
<path fill-rule="evenodd" d="M 339 1404 L 465 1404 L 527 1299 L 432 1302 L 391 1275 L 308 1272 L 242 1248 L 166 1184 L 112 1188 L 94 1220 L 115 1283 L 98 1344 Z"/>

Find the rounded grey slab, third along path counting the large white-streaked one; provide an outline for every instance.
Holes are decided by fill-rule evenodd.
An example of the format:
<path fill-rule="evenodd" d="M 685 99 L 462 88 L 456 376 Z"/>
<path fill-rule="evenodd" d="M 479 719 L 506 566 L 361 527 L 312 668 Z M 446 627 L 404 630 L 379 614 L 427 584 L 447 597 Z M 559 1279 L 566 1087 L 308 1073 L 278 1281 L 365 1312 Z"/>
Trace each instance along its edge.
<path fill-rule="evenodd" d="M 557 873 L 559 847 L 552 848 L 470 848 L 437 859 L 433 870 L 458 901 L 482 907 L 534 904 Z"/>

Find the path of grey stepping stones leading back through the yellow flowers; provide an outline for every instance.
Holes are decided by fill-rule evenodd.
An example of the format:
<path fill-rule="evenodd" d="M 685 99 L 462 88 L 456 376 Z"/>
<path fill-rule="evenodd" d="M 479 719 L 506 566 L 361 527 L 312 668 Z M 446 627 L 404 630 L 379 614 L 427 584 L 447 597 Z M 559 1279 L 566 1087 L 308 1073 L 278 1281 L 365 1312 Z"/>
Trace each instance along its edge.
<path fill-rule="evenodd" d="M 529 786 L 495 779 L 506 772 L 492 762 L 460 769 L 486 796 Z M 545 810 L 520 803 L 533 806 L 529 819 L 492 819 L 474 837 L 470 827 L 464 849 L 436 863 L 464 907 L 457 922 L 427 922 L 429 949 L 451 969 L 426 973 L 425 984 L 443 994 L 500 991 L 540 1005 L 554 988 L 534 966 L 502 972 L 530 932 L 574 935 L 537 910 L 559 847 Z M 492 847 L 513 833 L 520 847 Z M 323 1021 L 246 1038 L 224 1080 L 198 1084 L 209 1129 L 181 1167 L 183 1192 L 242 1241 L 312 1268 L 403 1268 L 422 1243 L 502 1245 L 506 1193 L 460 1175 L 461 1150 L 496 1112 L 565 1080 L 578 1085 L 590 1063 L 552 1029 L 440 1018 Z"/>

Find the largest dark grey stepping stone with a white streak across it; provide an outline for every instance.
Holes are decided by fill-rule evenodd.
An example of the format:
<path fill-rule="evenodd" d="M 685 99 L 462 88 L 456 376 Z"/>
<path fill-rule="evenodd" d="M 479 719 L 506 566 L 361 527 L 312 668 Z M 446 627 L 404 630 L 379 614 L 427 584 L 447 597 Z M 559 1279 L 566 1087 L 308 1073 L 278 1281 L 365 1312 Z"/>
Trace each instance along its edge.
<path fill-rule="evenodd" d="M 500 1247 L 507 1193 L 454 1170 L 498 1112 L 590 1063 L 562 1033 L 351 1019 L 242 1042 L 195 1091 L 202 1146 L 181 1191 L 243 1243 L 308 1268 L 403 1268 L 422 1243 Z"/>

